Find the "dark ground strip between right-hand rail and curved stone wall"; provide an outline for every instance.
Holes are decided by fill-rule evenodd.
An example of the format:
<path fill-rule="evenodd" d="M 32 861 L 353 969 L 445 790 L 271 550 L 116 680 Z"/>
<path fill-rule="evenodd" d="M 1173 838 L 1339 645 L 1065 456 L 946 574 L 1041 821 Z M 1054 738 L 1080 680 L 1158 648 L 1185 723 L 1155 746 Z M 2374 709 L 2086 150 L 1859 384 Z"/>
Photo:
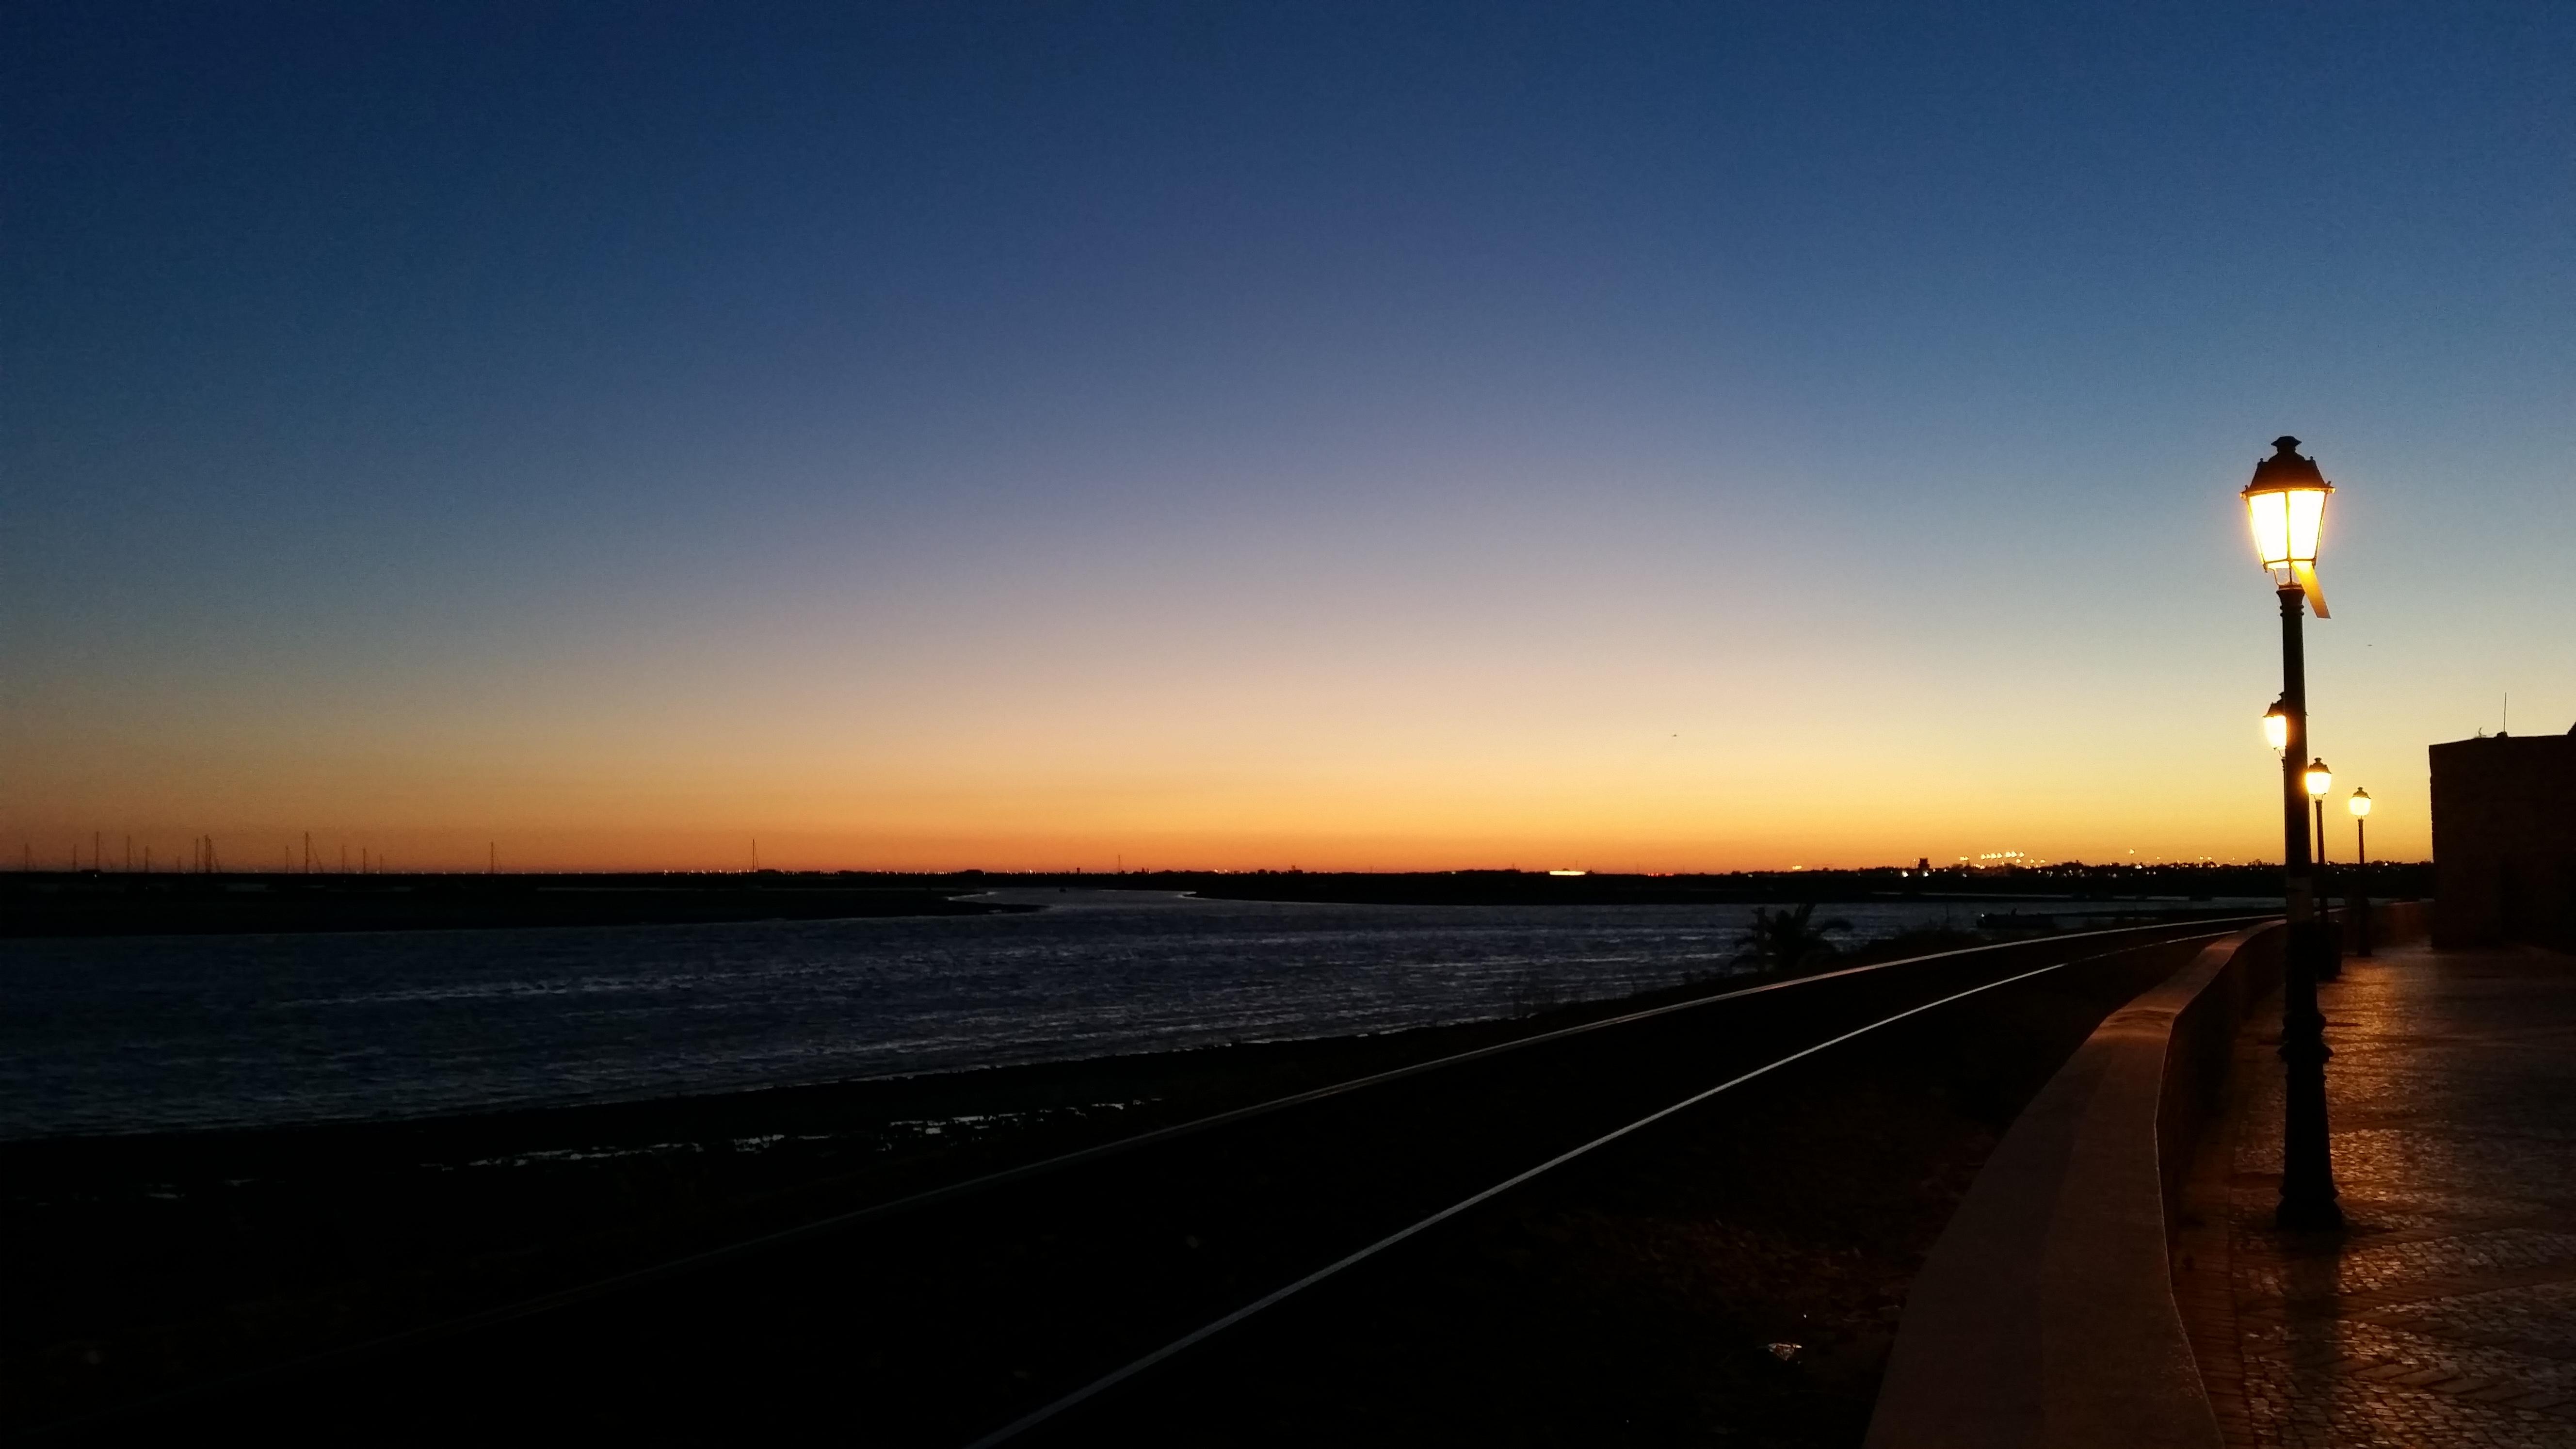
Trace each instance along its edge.
<path fill-rule="evenodd" d="M 1855 1446 L 1906 1287 L 1994 1142 L 2190 951 L 2133 951 L 1808 1057 L 1025 1441 Z"/>

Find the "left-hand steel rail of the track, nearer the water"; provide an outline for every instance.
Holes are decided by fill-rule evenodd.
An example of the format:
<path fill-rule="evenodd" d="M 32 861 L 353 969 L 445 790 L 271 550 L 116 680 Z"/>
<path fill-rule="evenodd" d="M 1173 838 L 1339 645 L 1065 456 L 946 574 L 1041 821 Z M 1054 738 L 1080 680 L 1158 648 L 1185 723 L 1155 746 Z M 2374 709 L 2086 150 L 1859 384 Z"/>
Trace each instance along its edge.
<path fill-rule="evenodd" d="M 2221 923 L 2244 923 L 2244 920 L 2272 920 L 2272 918 L 2269 915 L 2246 915 L 2246 918 L 2223 918 Z M 2205 926 L 2205 923 L 2202 920 L 2192 920 L 2192 923 L 2184 923 L 2184 926 Z M 263 1364 L 258 1369 L 242 1369 L 237 1374 L 222 1374 L 222 1377 L 206 1379 L 201 1385 L 188 1385 L 183 1390 L 173 1390 L 173 1392 L 165 1392 L 165 1395 L 152 1395 L 147 1400 L 139 1400 L 139 1403 L 131 1403 L 131 1405 L 121 1405 L 121 1408 L 111 1408 L 111 1410 L 103 1410 L 103 1413 L 95 1413 L 95 1415 L 80 1415 L 80 1418 L 67 1418 L 67 1421 L 57 1421 L 57 1423 L 49 1423 L 49 1426 L 39 1426 L 39 1428 L 33 1428 L 33 1436 L 46 1439 L 46 1436 L 54 1436 L 54 1434 L 80 1434 L 80 1431 L 90 1431 L 90 1428 L 108 1428 L 108 1426 L 113 1426 L 118 1421 L 149 1415 L 149 1413 L 167 1410 L 167 1408 L 178 1408 L 178 1405 L 185 1405 L 191 1400 L 201 1400 L 201 1397 L 211 1397 L 211 1395 L 222 1395 L 222 1392 L 232 1392 L 232 1390 L 242 1390 L 242 1387 L 252 1387 L 252 1385 L 263 1385 L 263 1382 L 273 1382 L 273 1379 L 291 1379 L 291 1377 L 299 1377 L 299 1374 L 309 1374 L 309 1372 L 317 1372 L 317 1369 L 340 1366 L 340 1364 L 350 1364 L 350 1361 L 361 1361 L 361 1359 L 376 1359 L 376 1356 L 384 1356 L 384 1354 L 397 1354 L 402 1348 L 415 1348 L 415 1346 L 422 1346 L 422 1343 L 438 1343 L 438 1341 L 459 1338 L 459 1336 L 466 1336 L 466 1333 L 474 1333 L 474 1330 L 482 1330 L 482 1328 L 497 1328 L 502 1323 L 518 1323 L 518 1320 L 526 1320 L 526 1318 L 538 1318 L 538 1315 L 546 1315 L 546 1312 L 554 1312 L 554 1310 L 562 1310 L 562 1307 L 574 1307 L 574 1305 L 582 1305 L 582 1302 L 590 1302 L 590 1299 L 598 1299 L 598 1297 L 608 1297 L 608 1294 L 616 1294 L 616 1292 L 626 1292 L 626 1289 L 649 1287 L 649 1284 L 657 1284 L 657 1281 L 688 1276 L 688 1274 L 696 1274 L 696 1271 L 708 1269 L 708 1266 L 729 1263 L 729 1261 L 737 1261 L 737 1258 L 750 1258 L 750 1256 L 768 1253 L 773 1248 L 783 1248 L 783 1245 L 791 1245 L 791 1243 L 804 1243 L 804 1240 L 811 1240 L 811 1238 L 827 1238 L 832 1232 L 842 1232 L 842 1230 L 858 1227 L 863 1222 L 876 1222 L 876 1220 L 899 1217 L 899 1214 L 907 1214 L 907 1212 L 920 1212 L 925 1207 L 938 1207 L 943 1201 L 956 1201 L 956 1199 L 963 1199 L 963 1196 L 974 1196 L 974 1194 L 981 1194 L 981 1191 L 989 1191 L 989 1189 L 997 1189 L 997 1186 L 1005 1186 L 1005 1183 L 1028 1181 L 1028 1178 L 1036 1178 L 1036 1176 L 1046 1176 L 1046 1173 L 1077 1168 L 1077 1165 L 1084 1165 L 1084 1163 L 1108 1160 L 1108 1158 L 1115 1158 L 1115 1155 L 1123 1155 L 1123 1152 L 1136 1152 L 1136 1150 L 1154 1147 L 1154 1145 L 1162 1145 L 1162 1142 L 1172 1142 L 1172 1140 L 1180 1140 L 1180 1137 L 1193 1137 L 1198 1132 L 1211 1132 L 1216 1127 L 1229 1127 L 1229 1124 L 1236 1124 L 1236 1122 L 1249 1122 L 1255 1116 L 1267 1116 L 1273 1111 L 1285 1111 L 1291 1106 L 1303 1106 L 1303 1104 L 1311 1104 L 1311 1101 L 1327 1101 L 1327 1098 L 1334 1098 L 1334 1096 L 1345 1096 L 1345 1093 L 1355 1093 L 1355 1091 L 1363 1091 L 1363 1088 L 1373 1088 L 1373 1085 L 1404 1080 L 1404 1078 L 1412 1078 L 1412 1075 L 1435 1073 L 1435 1070 L 1445 1070 L 1445 1067 L 1458 1067 L 1458 1065 L 1476 1062 L 1476 1060 L 1484 1060 L 1484 1057 L 1499 1057 L 1504 1052 L 1520 1052 L 1525 1047 L 1540 1047 L 1546 1042 L 1564 1042 L 1569 1036 L 1584 1036 L 1589 1031 L 1607 1031 L 1613 1026 L 1628 1026 L 1633 1021 L 1649 1021 L 1649 1018 L 1656 1018 L 1656 1016 L 1672 1016 L 1672 1013 L 1680 1013 L 1680 1011 L 1698 1011 L 1703 1006 L 1718 1006 L 1718 1003 L 1726 1003 L 1726 1000 L 1741 1000 L 1741 998 L 1749 998 L 1749 995 L 1765 995 L 1765 993 L 1775 993 L 1775 990 L 1793 990 L 1793 987 L 1806 987 L 1806 985 L 1842 980 L 1842 977 L 1860 977 L 1860 975 L 1870 975 L 1870 972 L 1888 972 L 1888 969 L 1896 969 L 1896 967 L 1919 967 L 1924 962 L 1945 962 L 1945 959 L 1953 959 L 1953 957 L 1973 957 L 1973 954 L 1984 954 L 1984 951 L 2009 951 L 2009 949 L 2020 949 L 2020 946 L 2032 946 L 2038 941 L 2050 941 L 2050 944 L 2061 944 L 2061 941 L 2094 941 L 2094 938 L 2102 938 L 2102 936 L 2133 936 L 2133 933 L 2141 933 L 2141 931 L 2159 931 L 2159 928 L 2164 928 L 2164 926 L 2112 926 L 2112 928 L 2105 928 L 2105 931 L 2071 931 L 2066 936 L 2040 936 L 2035 941 L 1996 941 L 1996 944 L 1986 944 L 1986 946 L 1960 946 L 1960 949 L 1953 949 L 1953 951 L 1929 951 L 1924 957 L 1901 957 L 1896 962 L 1870 962 L 1870 964 L 1862 964 L 1862 967 L 1842 967 L 1842 969 L 1834 969 L 1834 972 L 1816 972 L 1816 975 L 1806 975 L 1806 977 L 1790 977 L 1790 980 L 1762 982 L 1762 985 L 1723 990 L 1723 993 L 1713 993 L 1713 995 L 1700 995 L 1700 998 L 1690 998 L 1690 1000 L 1674 1000 L 1674 1003 L 1664 1003 L 1664 1006 L 1649 1006 L 1643 1011 L 1628 1011 L 1628 1013 L 1620 1013 L 1620 1016 L 1605 1016 L 1600 1021 L 1579 1021 L 1574 1026 L 1558 1026 L 1553 1031 L 1535 1031 L 1530 1036 L 1515 1036 L 1510 1042 L 1494 1042 L 1489 1047 L 1473 1047 L 1473 1049 L 1466 1049 L 1466 1052 L 1453 1052 L 1448 1057 L 1432 1057 L 1427 1062 L 1412 1062 L 1412 1065 L 1404 1065 L 1404 1067 L 1388 1067 L 1383 1073 L 1370 1073 L 1370 1075 L 1350 1078 L 1350 1080 L 1342 1080 L 1342 1083 L 1327 1083 L 1327 1085 L 1319 1085 L 1319 1088 L 1309 1088 L 1309 1091 L 1278 1096 L 1278 1098 L 1270 1098 L 1270 1101 L 1257 1101 L 1257 1104 L 1249 1104 L 1249 1106 L 1236 1106 L 1236 1109 L 1216 1111 L 1216 1114 L 1208 1114 L 1208 1116 L 1195 1116 L 1190 1122 L 1175 1122 L 1170 1127 L 1157 1127 L 1151 1132 L 1139 1132 L 1133 1137 L 1118 1137 L 1113 1142 L 1095 1142 L 1092 1147 L 1077 1147 L 1072 1152 L 1059 1152 L 1054 1158 L 1041 1158 L 1036 1163 L 1020 1163 L 1015 1168 L 999 1168 L 999 1171 L 981 1173 L 981 1176 L 974 1176 L 974 1178 L 963 1178 L 963 1181 L 956 1181 L 956 1183 L 945 1183 L 945 1186 L 938 1186 L 938 1189 L 925 1189 L 925 1191 L 907 1194 L 907 1196 L 889 1199 L 889 1201 L 878 1201 L 878 1204 L 871 1204 L 871 1207 L 860 1207 L 860 1209 L 850 1209 L 850 1212 L 837 1212 L 832 1217 L 819 1217 L 814 1222 L 801 1222 L 796 1227 L 783 1227 L 778 1232 L 762 1232 L 757 1238 L 744 1238 L 739 1243 L 726 1243 L 726 1245 L 706 1248 L 706 1250 L 688 1253 L 688 1256 L 680 1256 L 680 1258 L 667 1258 L 662 1263 L 649 1263 L 644 1269 L 629 1269 L 623 1274 L 611 1274 L 605 1279 L 592 1279 L 587 1284 L 577 1284 L 577 1287 L 569 1287 L 569 1289 L 556 1289 L 556 1292 L 549 1292 L 549 1294 L 538 1294 L 538 1297 L 528 1297 L 528 1299 L 518 1299 L 518 1302 L 487 1307 L 487 1310 L 479 1310 L 479 1312 L 466 1312 L 466 1315 L 448 1318 L 448 1320 L 440 1320 L 440 1323 L 425 1323 L 420 1328 L 407 1328 L 407 1330 L 399 1330 L 399 1333 L 386 1333 L 381 1338 L 368 1338 L 363 1343 L 348 1343 L 348 1346 L 340 1346 L 340 1348 L 325 1348 L 319 1354 L 307 1354 L 307 1356 L 289 1359 L 289 1361 L 281 1361 L 281 1364 Z M 2200 936 L 2174 936 L 2174 941 L 2197 941 L 2197 938 Z M 2143 941 L 2141 946 L 2159 946 L 2159 944 L 2164 944 L 2164 941 Z M 2117 954 L 2117 951 L 2105 951 L 2105 954 Z M 2099 957 L 2081 957 L 2081 959 L 2099 959 Z M 2076 962 L 2061 962 L 2061 964 L 2076 964 Z M 2056 967 L 2048 967 L 2048 969 L 2056 969 Z"/>

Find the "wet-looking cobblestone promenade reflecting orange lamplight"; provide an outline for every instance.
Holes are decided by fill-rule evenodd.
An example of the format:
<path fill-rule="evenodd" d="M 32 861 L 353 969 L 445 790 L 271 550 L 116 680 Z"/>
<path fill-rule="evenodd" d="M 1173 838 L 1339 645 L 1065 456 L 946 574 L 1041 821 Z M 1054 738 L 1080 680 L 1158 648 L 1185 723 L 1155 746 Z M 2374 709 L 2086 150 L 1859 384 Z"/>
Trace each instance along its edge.
<path fill-rule="evenodd" d="M 2177 1294 L 2231 1446 L 2576 1446 L 2576 957 L 2347 959 L 2344 1232 L 2280 1232 L 2280 1000 L 2184 1194 Z"/>

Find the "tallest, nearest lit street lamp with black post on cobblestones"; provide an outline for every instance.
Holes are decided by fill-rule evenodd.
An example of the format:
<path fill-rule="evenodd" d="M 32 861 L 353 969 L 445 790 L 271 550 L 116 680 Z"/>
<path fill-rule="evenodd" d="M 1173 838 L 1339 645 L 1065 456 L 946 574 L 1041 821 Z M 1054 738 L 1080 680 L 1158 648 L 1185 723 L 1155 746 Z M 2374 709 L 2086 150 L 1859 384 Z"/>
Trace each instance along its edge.
<path fill-rule="evenodd" d="M 2280 596 L 2280 676 L 2275 706 L 2280 724 L 2282 789 L 2282 902 L 2287 941 L 2282 946 L 2280 1060 L 2287 1070 L 2282 1111 L 2282 1227 L 2342 1227 L 2344 1209 L 2334 1201 L 2334 1155 L 2326 1140 L 2326 1016 L 2316 1008 L 2326 923 L 2316 910 L 2316 879 L 2308 869 L 2308 660 L 2300 642 L 2300 603 L 2316 603 L 2326 619 L 2326 593 L 2316 583 L 2316 536 L 2326 521 L 2326 495 L 2334 485 L 2313 459 L 2298 456 L 2298 438 L 2275 438 L 2272 456 L 2254 464 L 2254 482 L 2241 492 L 2254 526 L 2254 552 L 2272 572 Z"/>

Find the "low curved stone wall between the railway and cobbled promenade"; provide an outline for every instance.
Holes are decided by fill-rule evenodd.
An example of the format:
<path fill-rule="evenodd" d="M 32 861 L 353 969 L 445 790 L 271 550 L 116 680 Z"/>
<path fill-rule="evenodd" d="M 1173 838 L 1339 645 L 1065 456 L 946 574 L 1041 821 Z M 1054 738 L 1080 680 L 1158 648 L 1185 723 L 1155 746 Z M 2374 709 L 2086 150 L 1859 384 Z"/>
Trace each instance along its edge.
<path fill-rule="evenodd" d="M 2424 902 L 2372 913 L 2424 936 Z M 2169 1243 L 2236 1029 L 2280 987 L 2282 926 L 2213 941 L 2040 1088 L 1914 1279 L 1870 1449 L 2218 1449 Z"/>

